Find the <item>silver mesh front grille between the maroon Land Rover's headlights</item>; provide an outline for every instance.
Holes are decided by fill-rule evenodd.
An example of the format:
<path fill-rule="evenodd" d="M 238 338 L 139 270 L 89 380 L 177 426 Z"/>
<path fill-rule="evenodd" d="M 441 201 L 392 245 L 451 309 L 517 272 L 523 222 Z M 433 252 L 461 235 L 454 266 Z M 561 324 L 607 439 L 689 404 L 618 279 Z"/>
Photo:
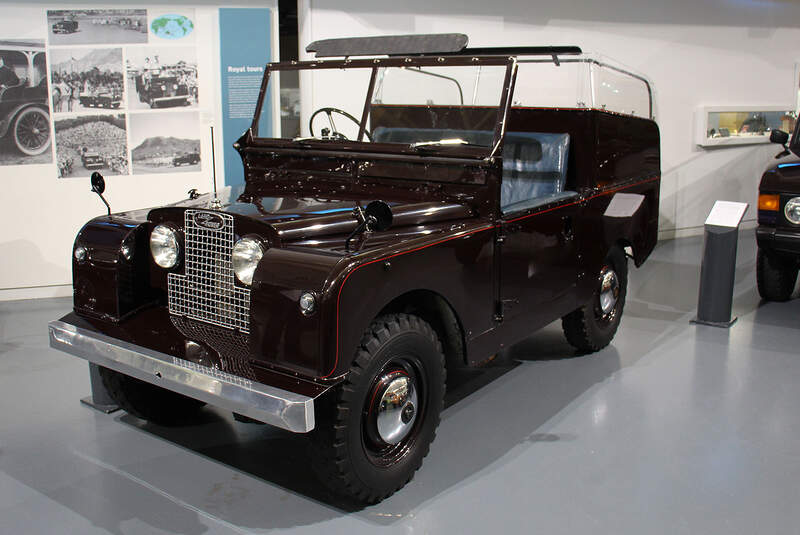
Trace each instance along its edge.
<path fill-rule="evenodd" d="M 221 222 L 219 228 L 201 226 L 197 214 Z M 236 286 L 231 263 L 233 216 L 186 210 L 184 229 L 185 275 L 167 278 L 170 314 L 249 332 L 250 290 Z"/>

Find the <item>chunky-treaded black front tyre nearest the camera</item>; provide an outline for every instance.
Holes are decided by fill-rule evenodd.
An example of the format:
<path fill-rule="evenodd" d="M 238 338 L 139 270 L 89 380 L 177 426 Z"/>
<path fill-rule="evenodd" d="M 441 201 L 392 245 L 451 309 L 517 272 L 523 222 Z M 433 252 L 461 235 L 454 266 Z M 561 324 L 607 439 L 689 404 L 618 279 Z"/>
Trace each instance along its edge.
<path fill-rule="evenodd" d="M 378 416 L 390 417 L 384 401 L 397 401 L 392 387 L 404 381 L 410 387 L 398 406 L 416 404 L 397 409 L 394 429 L 405 434 L 384 442 L 387 429 L 381 430 Z M 410 314 L 377 318 L 361 339 L 347 379 L 317 413 L 312 456 L 320 479 L 338 496 L 361 504 L 402 488 L 436 436 L 444 391 L 444 354 L 431 326 Z"/>

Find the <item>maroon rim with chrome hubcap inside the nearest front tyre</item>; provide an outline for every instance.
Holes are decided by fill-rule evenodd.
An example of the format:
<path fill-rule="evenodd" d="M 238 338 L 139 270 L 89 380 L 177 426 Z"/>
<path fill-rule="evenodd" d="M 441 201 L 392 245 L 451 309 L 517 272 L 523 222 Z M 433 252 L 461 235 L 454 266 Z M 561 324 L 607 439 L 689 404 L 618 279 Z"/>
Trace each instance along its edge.
<path fill-rule="evenodd" d="M 388 466 L 416 442 L 423 417 L 425 384 L 413 357 L 395 359 L 375 376 L 363 413 L 362 439 L 370 461 Z"/>

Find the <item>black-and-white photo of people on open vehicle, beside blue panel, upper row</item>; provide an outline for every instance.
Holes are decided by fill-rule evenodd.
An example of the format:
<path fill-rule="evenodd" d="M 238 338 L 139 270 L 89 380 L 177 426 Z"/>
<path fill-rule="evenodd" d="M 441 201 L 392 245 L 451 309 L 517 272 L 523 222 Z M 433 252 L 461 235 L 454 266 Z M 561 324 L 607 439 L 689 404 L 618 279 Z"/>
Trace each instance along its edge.
<path fill-rule="evenodd" d="M 126 54 L 129 110 L 197 107 L 194 47 L 130 47 Z"/>

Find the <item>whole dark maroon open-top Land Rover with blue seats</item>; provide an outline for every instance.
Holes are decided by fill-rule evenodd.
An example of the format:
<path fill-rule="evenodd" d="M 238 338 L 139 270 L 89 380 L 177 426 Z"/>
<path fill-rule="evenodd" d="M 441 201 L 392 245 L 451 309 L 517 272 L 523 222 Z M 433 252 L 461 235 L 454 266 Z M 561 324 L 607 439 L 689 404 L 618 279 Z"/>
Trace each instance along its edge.
<path fill-rule="evenodd" d="M 141 418 L 211 403 L 312 432 L 321 478 L 366 503 L 421 465 L 447 369 L 558 318 L 605 347 L 628 257 L 657 238 L 650 84 L 577 47 L 466 42 L 319 41 L 337 59 L 268 65 L 235 145 L 246 184 L 87 223 L 51 345 Z M 267 137 L 297 71 L 308 129 Z"/>

